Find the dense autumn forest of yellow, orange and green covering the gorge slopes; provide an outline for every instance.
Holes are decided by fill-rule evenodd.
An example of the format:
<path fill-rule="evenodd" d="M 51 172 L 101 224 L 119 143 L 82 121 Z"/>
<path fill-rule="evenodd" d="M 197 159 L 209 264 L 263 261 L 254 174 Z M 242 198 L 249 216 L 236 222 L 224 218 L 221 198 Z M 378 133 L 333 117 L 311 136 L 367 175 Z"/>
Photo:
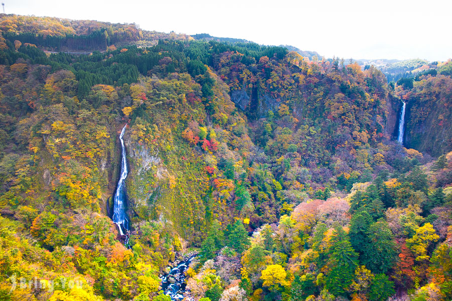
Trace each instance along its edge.
<path fill-rule="evenodd" d="M 187 254 L 185 300 L 452 298 L 450 61 L 1 16 L 0 300 L 170 301 Z"/>

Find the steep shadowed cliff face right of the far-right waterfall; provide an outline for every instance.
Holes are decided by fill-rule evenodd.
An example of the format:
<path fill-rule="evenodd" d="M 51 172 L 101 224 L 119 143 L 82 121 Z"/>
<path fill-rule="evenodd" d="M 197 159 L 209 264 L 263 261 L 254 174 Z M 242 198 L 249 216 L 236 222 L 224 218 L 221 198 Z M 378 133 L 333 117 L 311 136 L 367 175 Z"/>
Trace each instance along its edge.
<path fill-rule="evenodd" d="M 434 157 L 450 152 L 452 79 L 441 75 L 415 82 L 405 98 L 405 146 Z"/>

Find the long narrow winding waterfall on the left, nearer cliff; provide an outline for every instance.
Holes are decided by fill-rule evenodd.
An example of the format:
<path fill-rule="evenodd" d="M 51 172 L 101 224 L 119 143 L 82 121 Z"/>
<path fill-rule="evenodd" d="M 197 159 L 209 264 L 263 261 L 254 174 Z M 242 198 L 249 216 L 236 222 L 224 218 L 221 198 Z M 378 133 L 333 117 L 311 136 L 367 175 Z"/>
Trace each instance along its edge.
<path fill-rule="evenodd" d="M 121 177 L 118 181 L 118 186 L 116 188 L 115 194 L 115 207 L 113 213 L 113 222 L 118 225 L 118 229 L 121 235 L 124 235 L 123 228 L 126 231 L 129 231 L 128 221 L 126 218 L 126 190 L 125 190 L 125 180 L 127 177 L 127 160 L 126 160 L 126 147 L 124 146 L 124 132 L 126 131 L 127 124 L 124 125 L 123 130 L 121 131 L 120 140 L 121 140 Z"/>

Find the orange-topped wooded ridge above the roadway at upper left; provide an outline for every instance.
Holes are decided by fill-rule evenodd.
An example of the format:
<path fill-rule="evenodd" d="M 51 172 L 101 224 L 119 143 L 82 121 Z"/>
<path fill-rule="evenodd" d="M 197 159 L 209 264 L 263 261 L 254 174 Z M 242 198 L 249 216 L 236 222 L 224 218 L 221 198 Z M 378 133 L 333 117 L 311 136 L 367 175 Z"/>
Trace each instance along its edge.
<path fill-rule="evenodd" d="M 6 41 L 20 41 L 50 51 L 76 52 L 104 51 L 112 45 L 150 47 L 159 40 L 188 39 L 185 34 L 145 31 L 135 23 L 0 15 L 0 49 Z"/>

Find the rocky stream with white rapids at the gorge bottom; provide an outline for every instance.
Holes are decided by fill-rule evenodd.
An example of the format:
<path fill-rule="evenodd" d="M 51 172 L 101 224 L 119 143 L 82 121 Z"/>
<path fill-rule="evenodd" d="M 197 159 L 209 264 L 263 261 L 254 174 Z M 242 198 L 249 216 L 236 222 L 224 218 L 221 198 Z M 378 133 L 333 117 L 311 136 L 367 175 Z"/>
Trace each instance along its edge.
<path fill-rule="evenodd" d="M 164 294 L 171 297 L 171 300 L 182 300 L 184 298 L 183 294 L 187 286 L 185 283 L 185 271 L 195 257 L 196 254 L 185 258 L 177 266 L 173 267 L 169 274 L 160 278 L 162 279 L 162 290 Z"/>

